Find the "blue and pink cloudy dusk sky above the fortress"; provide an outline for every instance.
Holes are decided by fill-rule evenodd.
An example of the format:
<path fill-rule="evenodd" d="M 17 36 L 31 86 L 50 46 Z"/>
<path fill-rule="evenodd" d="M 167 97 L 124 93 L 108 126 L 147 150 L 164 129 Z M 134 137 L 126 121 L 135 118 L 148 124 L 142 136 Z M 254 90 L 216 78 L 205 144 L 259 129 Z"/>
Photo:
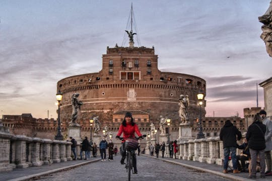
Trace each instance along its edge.
<path fill-rule="evenodd" d="M 270 0 L 1 0 L 0 116 L 56 118 L 57 81 L 101 70 L 107 46 L 122 45 L 131 2 L 135 46 L 154 46 L 163 72 L 205 79 L 206 116 L 243 117 L 257 89 L 263 108 L 256 83 L 272 76 L 272 59 L 258 17 Z"/>

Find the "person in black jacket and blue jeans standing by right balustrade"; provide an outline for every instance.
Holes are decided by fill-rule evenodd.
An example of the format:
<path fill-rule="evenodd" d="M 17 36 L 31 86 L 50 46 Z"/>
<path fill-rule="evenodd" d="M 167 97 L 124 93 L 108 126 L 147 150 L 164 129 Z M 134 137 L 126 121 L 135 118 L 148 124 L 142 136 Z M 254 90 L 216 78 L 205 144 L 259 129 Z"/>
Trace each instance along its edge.
<path fill-rule="evenodd" d="M 236 158 L 236 147 L 237 140 L 242 138 L 241 132 L 233 126 L 230 120 L 225 122 L 225 125 L 220 130 L 220 140 L 223 141 L 224 148 L 224 170 L 223 173 L 228 173 L 228 161 L 231 153 L 232 165 L 233 165 L 233 173 L 239 173 L 240 171 L 237 169 L 237 158 Z"/>

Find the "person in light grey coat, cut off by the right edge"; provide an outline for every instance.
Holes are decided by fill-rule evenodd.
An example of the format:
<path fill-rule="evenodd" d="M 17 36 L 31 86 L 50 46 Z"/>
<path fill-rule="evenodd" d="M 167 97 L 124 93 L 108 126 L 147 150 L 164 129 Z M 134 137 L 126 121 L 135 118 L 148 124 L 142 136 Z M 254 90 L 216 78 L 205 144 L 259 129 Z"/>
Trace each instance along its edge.
<path fill-rule="evenodd" d="M 262 124 L 266 126 L 266 131 L 264 134 L 264 139 L 265 139 L 264 156 L 265 156 L 265 162 L 267 165 L 267 171 L 265 172 L 265 176 L 272 176 L 272 171 L 271 171 L 271 168 L 272 168 L 272 161 L 271 161 L 272 122 L 268 117 L 266 117 L 266 112 L 264 110 L 261 110 L 259 114 L 262 118 Z"/>

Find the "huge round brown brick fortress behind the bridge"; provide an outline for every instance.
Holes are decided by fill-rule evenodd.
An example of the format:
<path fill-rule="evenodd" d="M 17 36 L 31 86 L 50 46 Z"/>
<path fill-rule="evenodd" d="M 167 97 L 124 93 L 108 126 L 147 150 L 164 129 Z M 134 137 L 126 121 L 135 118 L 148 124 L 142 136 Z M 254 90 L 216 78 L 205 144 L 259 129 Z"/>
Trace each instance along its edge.
<path fill-rule="evenodd" d="M 112 131 L 117 131 L 126 111 L 132 112 L 141 130 L 148 130 L 151 122 L 158 128 L 160 115 L 170 118 L 173 128 L 177 128 L 181 94 L 189 96 L 189 121 L 192 122 L 199 116 L 196 95 L 200 90 L 206 93 L 206 81 L 200 77 L 161 72 L 154 47 L 107 47 L 101 71 L 57 82 L 57 91 L 63 93 L 61 122 L 70 122 L 71 98 L 79 93 L 83 105 L 78 123 L 85 125 L 91 117 L 99 116 L 102 126 L 109 126 Z M 205 114 L 203 105 L 202 115 Z"/>

